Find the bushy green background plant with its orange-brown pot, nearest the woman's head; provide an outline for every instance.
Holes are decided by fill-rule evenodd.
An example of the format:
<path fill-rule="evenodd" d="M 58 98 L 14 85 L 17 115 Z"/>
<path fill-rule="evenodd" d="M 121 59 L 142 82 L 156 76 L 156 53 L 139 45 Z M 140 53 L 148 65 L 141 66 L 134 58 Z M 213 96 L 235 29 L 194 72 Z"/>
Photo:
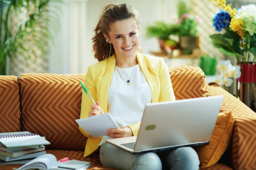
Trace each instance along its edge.
<path fill-rule="evenodd" d="M 178 43 L 170 39 L 170 35 L 177 35 L 180 27 L 177 24 L 167 24 L 163 21 L 157 21 L 146 28 L 147 37 L 157 37 L 161 50 L 166 53 L 178 48 Z"/>

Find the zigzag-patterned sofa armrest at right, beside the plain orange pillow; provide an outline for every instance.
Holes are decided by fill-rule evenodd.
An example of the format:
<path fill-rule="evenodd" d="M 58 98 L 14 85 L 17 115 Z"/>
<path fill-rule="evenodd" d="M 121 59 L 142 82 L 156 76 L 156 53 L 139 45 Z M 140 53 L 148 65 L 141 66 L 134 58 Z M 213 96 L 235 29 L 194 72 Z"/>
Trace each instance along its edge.
<path fill-rule="evenodd" d="M 256 169 L 256 113 L 216 83 L 210 83 L 208 96 L 218 95 L 224 95 L 221 111 L 232 111 L 235 118 L 232 140 L 233 168 Z"/>

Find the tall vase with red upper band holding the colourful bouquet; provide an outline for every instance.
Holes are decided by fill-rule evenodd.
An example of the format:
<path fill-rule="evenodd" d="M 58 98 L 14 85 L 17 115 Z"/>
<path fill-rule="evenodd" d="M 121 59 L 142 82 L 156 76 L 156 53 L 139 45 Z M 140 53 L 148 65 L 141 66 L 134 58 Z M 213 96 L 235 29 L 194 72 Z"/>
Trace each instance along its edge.
<path fill-rule="evenodd" d="M 238 63 L 241 77 L 236 80 L 236 95 L 241 102 L 256 112 L 256 64 Z"/>

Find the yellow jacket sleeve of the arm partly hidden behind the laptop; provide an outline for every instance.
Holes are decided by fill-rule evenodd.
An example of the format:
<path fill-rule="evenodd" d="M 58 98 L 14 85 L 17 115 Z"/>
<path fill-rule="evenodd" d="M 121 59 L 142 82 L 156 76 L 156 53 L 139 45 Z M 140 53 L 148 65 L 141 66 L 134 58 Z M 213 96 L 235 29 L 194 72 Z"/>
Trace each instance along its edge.
<path fill-rule="evenodd" d="M 158 77 L 160 80 L 160 96 L 159 96 L 158 102 L 175 100 L 175 95 L 172 88 L 172 82 L 170 79 L 168 66 L 166 65 L 162 57 L 160 58 L 160 69 L 159 69 Z M 137 122 L 137 123 L 128 125 L 128 127 L 131 128 L 134 136 L 138 135 L 140 124 L 141 122 Z"/>

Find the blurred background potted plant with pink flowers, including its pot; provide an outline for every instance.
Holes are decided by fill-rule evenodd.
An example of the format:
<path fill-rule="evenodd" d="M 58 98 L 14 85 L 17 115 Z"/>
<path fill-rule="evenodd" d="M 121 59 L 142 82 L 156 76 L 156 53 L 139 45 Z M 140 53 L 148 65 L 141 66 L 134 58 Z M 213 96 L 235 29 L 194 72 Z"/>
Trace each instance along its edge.
<path fill-rule="evenodd" d="M 197 26 L 202 20 L 199 17 L 189 14 L 189 9 L 184 1 L 179 1 L 177 9 L 179 17 L 178 24 L 180 25 L 180 48 L 183 54 L 192 54 L 193 49 L 199 48 Z"/>

